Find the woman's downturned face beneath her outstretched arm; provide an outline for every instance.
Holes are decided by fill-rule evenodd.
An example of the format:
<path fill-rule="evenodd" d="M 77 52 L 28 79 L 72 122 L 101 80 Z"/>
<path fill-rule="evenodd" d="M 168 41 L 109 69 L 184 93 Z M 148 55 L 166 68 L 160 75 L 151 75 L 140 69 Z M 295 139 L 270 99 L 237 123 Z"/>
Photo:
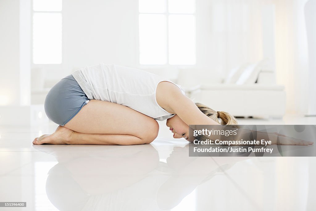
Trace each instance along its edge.
<path fill-rule="evenodd" d="M 173 133 L 173 138 L 185 138 L 188 140 L 189 126 L 185 124 L 185 122 L 182 121 L 178 115 L 174 115 L 173 117 L 167 119 L 166 125 Z"/>

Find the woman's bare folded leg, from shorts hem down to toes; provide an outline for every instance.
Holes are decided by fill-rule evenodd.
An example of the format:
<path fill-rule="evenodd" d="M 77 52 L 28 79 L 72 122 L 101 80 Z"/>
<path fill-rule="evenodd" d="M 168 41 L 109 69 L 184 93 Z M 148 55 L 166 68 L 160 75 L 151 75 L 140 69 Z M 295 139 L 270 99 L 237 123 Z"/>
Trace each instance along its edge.
<path fill-rule="evenodd" d="M 90 100 L 64 127 L 58 126 L 55 133 L 35 138 L 33 143 L 145 144 L 155 140 L 158 130 L 156 120 L 131 108 Z"/>

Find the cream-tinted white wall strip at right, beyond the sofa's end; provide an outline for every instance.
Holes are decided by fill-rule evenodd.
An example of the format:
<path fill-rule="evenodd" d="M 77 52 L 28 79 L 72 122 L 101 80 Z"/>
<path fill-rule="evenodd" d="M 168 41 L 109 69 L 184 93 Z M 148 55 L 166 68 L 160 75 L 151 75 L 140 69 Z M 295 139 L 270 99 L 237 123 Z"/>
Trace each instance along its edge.
<path fill-rule="evenodd" d="M 304 17 L 307 0 L 275 0 L 276 79 L 285 86 L 286 110 L 307 113 L 308 50 Z"/>

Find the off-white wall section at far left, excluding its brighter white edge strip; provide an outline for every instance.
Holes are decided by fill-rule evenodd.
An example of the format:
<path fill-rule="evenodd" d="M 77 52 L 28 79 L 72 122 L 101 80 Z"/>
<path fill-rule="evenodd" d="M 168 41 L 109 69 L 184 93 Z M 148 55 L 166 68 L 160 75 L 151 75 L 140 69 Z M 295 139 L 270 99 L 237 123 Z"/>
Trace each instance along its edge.
<path fill-rule="evenodd" d="M 19 5 L 0 1 L 0 106 L 20 104 Z"/>

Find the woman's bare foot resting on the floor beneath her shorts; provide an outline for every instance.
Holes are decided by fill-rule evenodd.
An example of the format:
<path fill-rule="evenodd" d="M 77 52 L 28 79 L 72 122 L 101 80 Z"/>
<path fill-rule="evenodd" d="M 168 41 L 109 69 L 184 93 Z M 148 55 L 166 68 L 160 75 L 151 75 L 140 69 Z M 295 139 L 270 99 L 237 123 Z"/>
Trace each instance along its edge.
<path fill-rule="evenodd" d="M 75 131 L 59 125 L 54 133 L 36 137 L 33 144 L 67 144 L 74 133 Z"/>

